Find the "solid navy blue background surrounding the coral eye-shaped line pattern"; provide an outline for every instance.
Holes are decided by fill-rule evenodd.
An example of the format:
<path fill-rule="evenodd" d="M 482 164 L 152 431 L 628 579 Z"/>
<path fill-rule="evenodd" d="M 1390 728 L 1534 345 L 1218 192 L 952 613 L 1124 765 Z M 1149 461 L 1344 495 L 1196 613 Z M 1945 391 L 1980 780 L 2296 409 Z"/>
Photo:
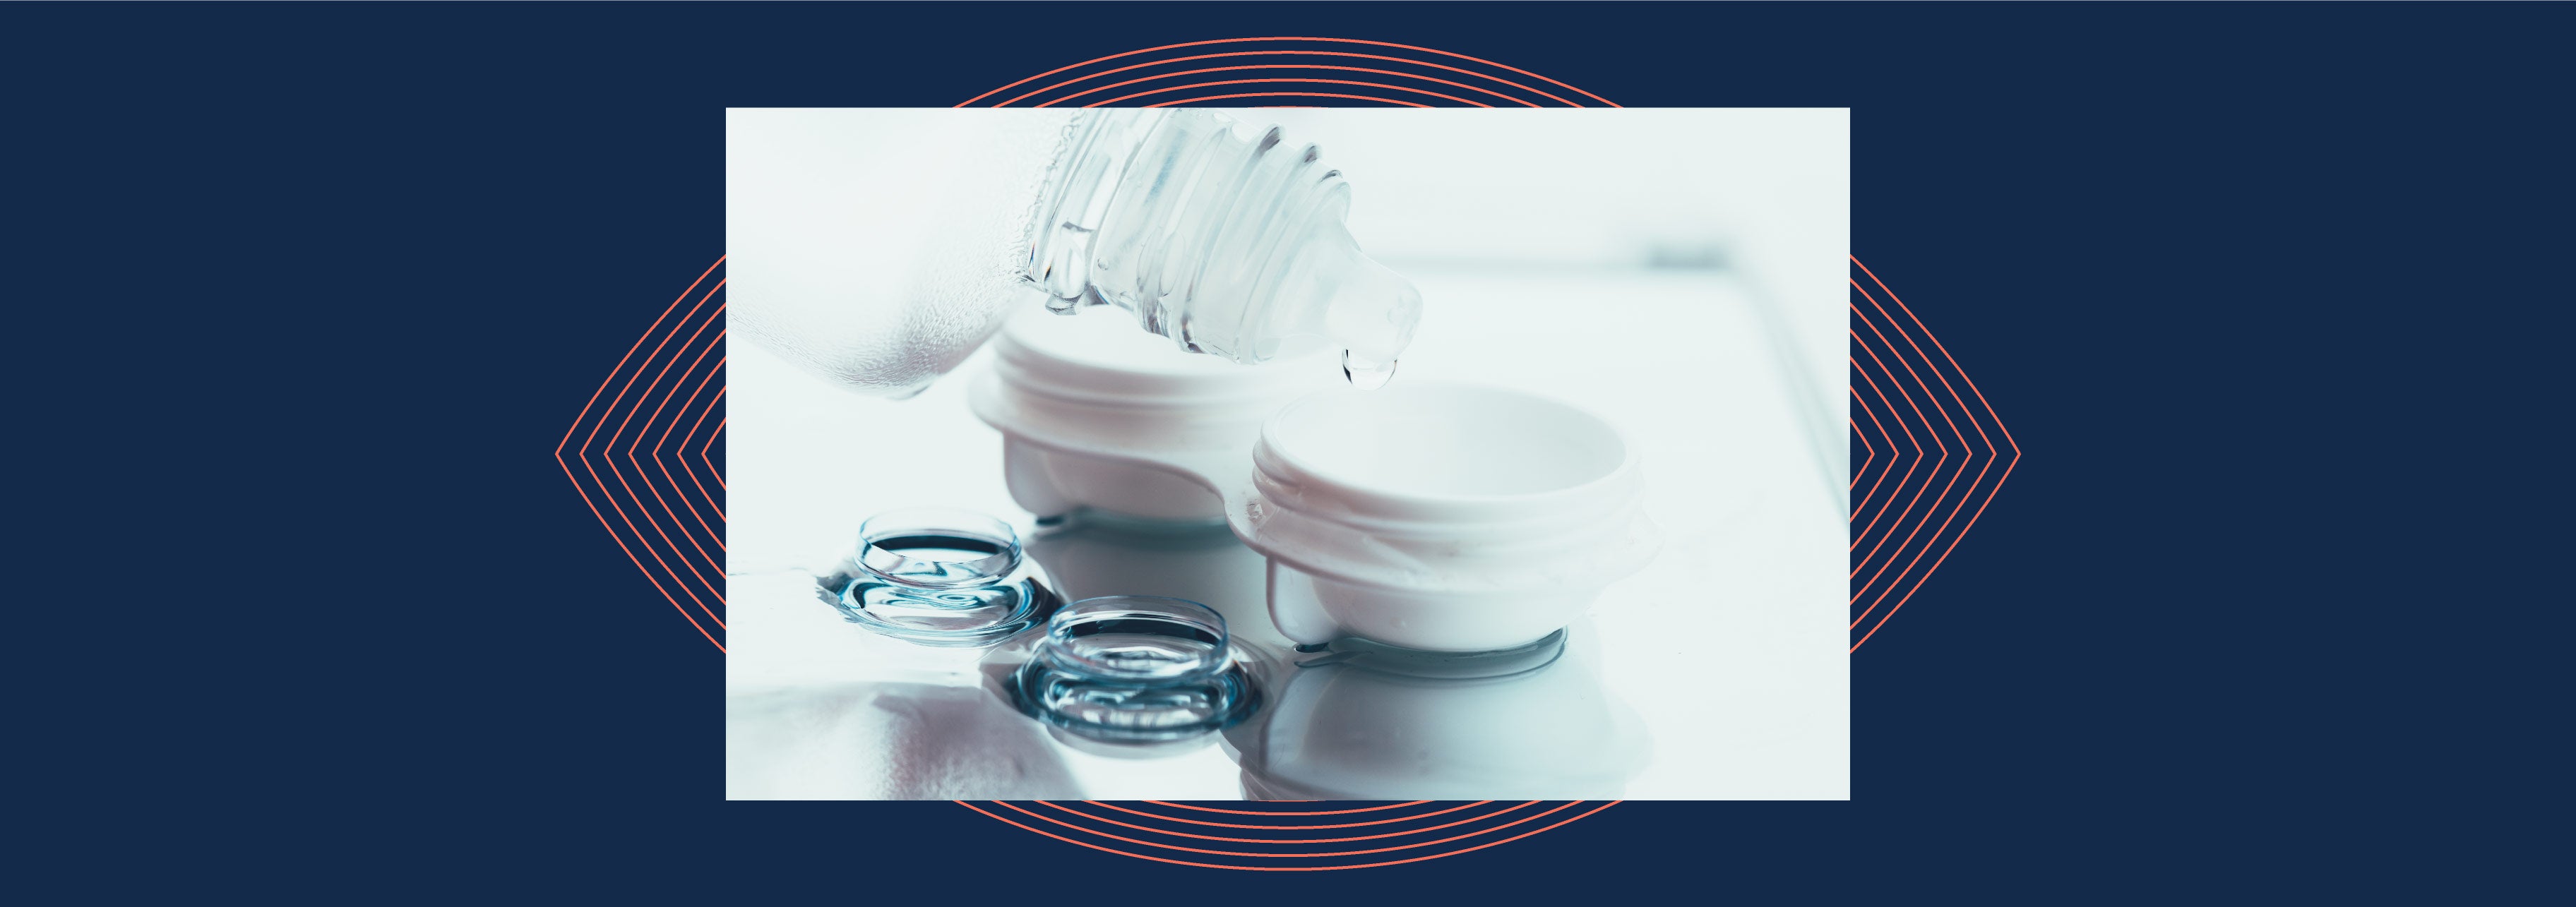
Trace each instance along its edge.
<path fill-rule="evenodd" d="M 2558 551 L 2530 490 L 2563 482 L 2499 454 L 2563 435 L 2563 402 L 2514 394 L 2563 387 L 2568 26 L 2566 5 L 8 5 L 13 446 L 41 461 L 15 649 L 44 768 L 21 783 L 49 845 L 126 866 L 93 889 L 2514 886 L 2543 853 L 2517 830 L 2563 727 L 2566 593 L 2512 569 Z M 1852 250 L 2025 459 L 1855 654 L 1850 804 L 1623 804 L 1458 858 L 1255 876 L 953 804 L 721 801 L 719 654 L 551 461 L 724 253 L 721 111 L 948 106 L 1267 33 L 1473 54 L 1623 106 L 1852 108 Z"/>

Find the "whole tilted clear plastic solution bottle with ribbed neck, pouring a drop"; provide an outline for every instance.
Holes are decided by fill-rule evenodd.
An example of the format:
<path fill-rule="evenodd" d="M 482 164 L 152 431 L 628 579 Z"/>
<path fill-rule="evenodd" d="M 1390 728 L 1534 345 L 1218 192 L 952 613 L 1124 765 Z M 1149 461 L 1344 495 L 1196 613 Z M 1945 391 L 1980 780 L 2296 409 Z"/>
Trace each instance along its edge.
<path fill-rule="evenodd" d="M 1347 209 L 1314 144 L 1203 108 L 726 119 L 734 327 L 884 397 L 1041 301 L 1121 307 L 1239 363 L 1334 345 L 1373 387 L 1422 296 L 1360 253 Z"/>

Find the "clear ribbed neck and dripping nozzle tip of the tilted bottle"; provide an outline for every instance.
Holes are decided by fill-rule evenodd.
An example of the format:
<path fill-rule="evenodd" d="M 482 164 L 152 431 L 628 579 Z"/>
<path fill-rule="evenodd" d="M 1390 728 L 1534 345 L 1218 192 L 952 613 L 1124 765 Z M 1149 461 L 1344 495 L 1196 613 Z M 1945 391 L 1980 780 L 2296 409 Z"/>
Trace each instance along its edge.
<path fill-rule="evenodd" d="M 1193 353 L 1260 363 L 1334 343 L 1391 361 L 1419 296 L 1360 255 L 1347 209 L 1342 173 L 1278 126 L 1082 111 L 1030 211 L 1020 278 L 1051 309 L 1113 304 Z"/>

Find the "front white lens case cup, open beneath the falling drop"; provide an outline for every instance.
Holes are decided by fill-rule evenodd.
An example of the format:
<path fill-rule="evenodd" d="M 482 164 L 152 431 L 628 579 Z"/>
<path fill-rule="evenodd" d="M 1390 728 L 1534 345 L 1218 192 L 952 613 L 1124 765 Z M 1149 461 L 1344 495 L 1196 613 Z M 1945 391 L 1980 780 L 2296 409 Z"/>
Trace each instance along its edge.
<path fill-rule="evenodd" d="M 1548 397 L 1409 381 L 1273 415 L 1229 513 L 1298 644 L 1522 647 L 1646 567 L 1636 446 Z"/>

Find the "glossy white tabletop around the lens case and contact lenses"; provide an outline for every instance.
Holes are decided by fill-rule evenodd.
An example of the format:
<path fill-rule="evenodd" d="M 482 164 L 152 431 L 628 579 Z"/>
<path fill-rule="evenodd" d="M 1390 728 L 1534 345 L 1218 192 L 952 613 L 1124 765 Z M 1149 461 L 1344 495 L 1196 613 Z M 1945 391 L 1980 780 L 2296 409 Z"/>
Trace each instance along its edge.
<path fill-rule="evenodd" d="M 1641 448 L 1662 554 L 1574 626 L 1597 647 L 1592 688 L 1651 740 L 1623 796 L 1850 796 L 1847 454 L 1842 397 L 1832 397 L 1842 392 L 1839 294 L 1816 314 L 1814 299 L 1793 312 L 1790 301 L 1754 304 L 1723 273 L 1414 276 L 1435 304 L 1396 381 L 1577 399 Z M 1600 304 L 1569 317 L 1566 299 Z M 999 433 L 966 410 L 969 381 L 871 399 L 747 343 L 732 348 L 729 368 L 729 796 L 1244 796 L 1229 745 L 1154 758 L 1066 745 L 989 696 L 974 652 L 868 636 L 783 572 L 829 562 L 858 520 L 899 505 L 976 508 L 1025 526 L 1002 482 Z M 971 361 L 956 379 L 979 368 Z M 1226 536 L 1190 546 L 1092 533 L 1038 539 L 1030 554 L 1069 595 L 1206 600 L 1236 636 L 1283 644 L 1262 613 L 1262 559 Z M 1373 711 L 1332 714 L 1363 721 Z M 1440 740 L 1461 750 L 1437 752 L 1564 727 L 1546 719 L 1548 706 L 1515 716 L 1479 703 L 1473 714 L 1502 719 L 1453 724 Z M 1329 786 L 1327 768 L 1296 786 Z M 1388 776 L 1345 781 L 1365 788 L 1370 778 Z M 1450 796 L 1450 786 L 1425 786 L 1435 788 Z"/>

